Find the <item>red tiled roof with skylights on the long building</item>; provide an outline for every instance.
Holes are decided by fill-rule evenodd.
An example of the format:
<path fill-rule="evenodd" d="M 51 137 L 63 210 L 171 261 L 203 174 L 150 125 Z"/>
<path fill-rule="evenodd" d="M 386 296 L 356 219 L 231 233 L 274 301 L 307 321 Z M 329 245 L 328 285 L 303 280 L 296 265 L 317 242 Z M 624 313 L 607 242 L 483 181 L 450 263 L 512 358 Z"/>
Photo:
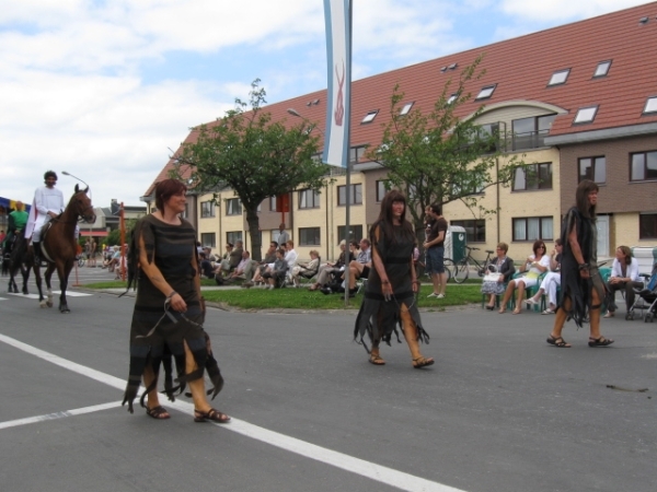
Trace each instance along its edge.
<path fill-rule="evenodd" d="M 452 78 L 456 86 L 461 70 L 482 54 L 485 56 L 480 68 L 486 73 L 471 81 L 466 91 L 474 97 L 482 87 L 497 84 L 493 96 L 485 101 L 488 106 L 526 99 L 565 109 L 566 114 L 555 118 L 550 136 L 657 122 L 657 115 L 642 115 L 647 97 L 657 96 L 653 60 L 657 52 L 656 15 L 657 2 L 652 2 L 353 82 L 350 144 L 380 142 L 382 126 L 390 120 L 390 97 L 396 83 L 406 94 L 405 102 L 415 102 L 414 108 L 428 112 L 446 81 Z M 644 16 L 648 22 L 639 24 Z M 612 60 L 608 75 L 593 79 L 598 63 L 606 60 Z M 440 72 L 441 67 L 451 63 L 458 63 L 458 68 Z M 548 86 L 552 74 L 563 69 L 570 69 L 566 83 Z M 320 104 L 307 106 L 313 99 L 320 99 Z M 471 101 L 460 106 L 458 116 L 472 114 L 480 104 Z M 598 106 L 595 121 L 573 125 L 577 109 L 587 106 Z M 323 131 L 326 91 L 272 104 L 266 110 L 274 120 L 285 118 L 290 125 L 298 124 L 288 108 L 316 122 Z M 374 109 L 379 109 L 376 119 L 360 125 L 365 115 Z M 171 162 L 158 179 L 165 177 L 170 167 Z"/>

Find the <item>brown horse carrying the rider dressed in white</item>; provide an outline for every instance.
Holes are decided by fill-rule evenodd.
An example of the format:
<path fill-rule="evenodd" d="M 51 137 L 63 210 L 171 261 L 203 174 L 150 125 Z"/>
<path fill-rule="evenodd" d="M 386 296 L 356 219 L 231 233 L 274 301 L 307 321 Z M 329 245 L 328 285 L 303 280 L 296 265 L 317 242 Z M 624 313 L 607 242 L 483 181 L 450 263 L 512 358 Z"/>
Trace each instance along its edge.
<path fill-rule="evenodd" d="M 78 188 L 76 185 L 76 192 L 71 197 L 68 206 L 64 212 L 51 219 L 44 229 L 42 230 L 42 261 L 47 261 L 48 267 L 46 268 L 46 285 L 48 288 L 48 298 L 44 297 L 42 291 L 41 280 L 41 265 L 34 263 L 34 248 L 30 246 L 30 254 L 27 255 L 28 266 L 34 268 L 34 278 L 36 280 L 36 286 L 38 288 L 38 302 L 42 307 L 53 307 L 53 290 L 50 288 L 50 278 L 53 272 L 57 269 L 57 276 L 59 277 L 59 312 L 70 313 L 68 304 L 66 302 L 66 289 L 68 286 L 68 277 L 73 268 L 77 254 L 76 243 L 76 224 L 78 218 L 87 223 L 95 222 L 95 214 L 93 213 L 93 206 L 91 199 L 87 196 L 89 187 L 83 190 Z"/>

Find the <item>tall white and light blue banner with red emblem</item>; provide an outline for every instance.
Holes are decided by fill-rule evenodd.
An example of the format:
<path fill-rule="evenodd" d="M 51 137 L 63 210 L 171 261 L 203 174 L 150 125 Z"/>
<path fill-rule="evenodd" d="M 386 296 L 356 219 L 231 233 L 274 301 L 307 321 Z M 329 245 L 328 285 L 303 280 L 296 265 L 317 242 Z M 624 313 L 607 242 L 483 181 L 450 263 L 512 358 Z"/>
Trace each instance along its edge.
<path fill-rule="evenodd" d="M 347 167 L 351 91 L 350 0 L 324 0 L 328 101 L 322 161 Z"/>

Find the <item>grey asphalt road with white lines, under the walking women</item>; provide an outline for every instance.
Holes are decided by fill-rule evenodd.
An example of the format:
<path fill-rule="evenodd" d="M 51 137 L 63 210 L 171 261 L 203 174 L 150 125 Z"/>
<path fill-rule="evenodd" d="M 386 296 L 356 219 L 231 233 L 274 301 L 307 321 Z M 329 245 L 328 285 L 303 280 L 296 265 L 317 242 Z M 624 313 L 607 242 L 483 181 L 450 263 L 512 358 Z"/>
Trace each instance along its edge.
<path fill-rule="evenodd" d="M 0 293 L 0 490 L 657 488 L 657 323 L 622 309 L 606 349 L 572 324 L 572 349 L 548 345 L 554 318 L 535 313 L 423 313 L 437 363 L 422 371 L 405 343 L 368 364 L 354 313 L 209 309 L 219 426 L 185 398 L 168 421 L 120 407 L 132 304 L 74 296 L 61 315 Z"/>

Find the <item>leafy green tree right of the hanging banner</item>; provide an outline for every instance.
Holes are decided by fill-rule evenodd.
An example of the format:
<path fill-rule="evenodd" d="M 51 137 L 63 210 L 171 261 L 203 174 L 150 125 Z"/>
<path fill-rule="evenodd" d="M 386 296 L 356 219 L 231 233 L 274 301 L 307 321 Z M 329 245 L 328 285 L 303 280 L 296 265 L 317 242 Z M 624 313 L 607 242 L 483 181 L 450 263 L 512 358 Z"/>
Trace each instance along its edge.
<path fill-rule="evenodd" d="M 480 204 L 481 192 L 493 185 L 508 185 L 515 169 L 525 166 L 517 155 L 493 169 L 503 154 L 502 136 L 493 126 L 477 126 L 481 105 L 471 117 L 461 119 L 457 109 L 472 99 L 465 84 L 485 73 L 477 72 L 483 56 L 461 72 L 458 86 L 446 82 L 442 94 L 428 114 L 414 109 L 400 114 L 404 93 L 395 85 L 391 97 L 391 120 L 384 127 L 381 144 L 368 151 L 372 161 L 388 169 L 388 187 L 406 191 L 408 210 L 422 245 L 427 206 L 460 200 L 480 214 L 494 213 Z M 474 211 L 473 211 L 474 214 Z M 475 215 L 476 216 L 476 215 Z"/>

